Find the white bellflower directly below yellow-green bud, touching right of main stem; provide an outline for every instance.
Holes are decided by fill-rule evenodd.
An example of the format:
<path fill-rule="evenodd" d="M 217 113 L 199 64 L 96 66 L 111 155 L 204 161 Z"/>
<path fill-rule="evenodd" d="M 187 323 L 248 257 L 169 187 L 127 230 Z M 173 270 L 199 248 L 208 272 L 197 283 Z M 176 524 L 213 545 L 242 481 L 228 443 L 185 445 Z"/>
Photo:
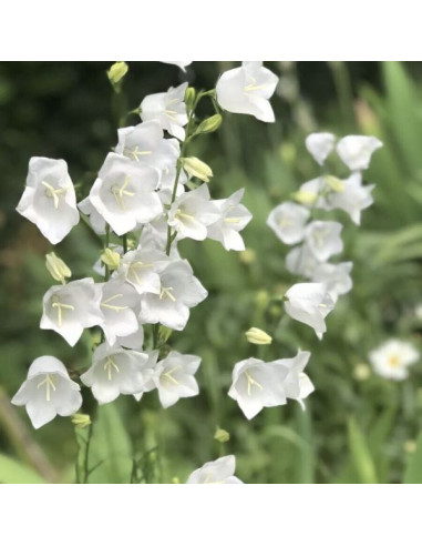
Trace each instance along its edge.
<path fill-rule="evenodd" d="M 186 192 L 172 204 L 168 211 L 168 225 L 174 228 L 179 237 L 204 241 L 207 226 L 219 220 L 220 213 L 210 201 L 206 184 Z"/>

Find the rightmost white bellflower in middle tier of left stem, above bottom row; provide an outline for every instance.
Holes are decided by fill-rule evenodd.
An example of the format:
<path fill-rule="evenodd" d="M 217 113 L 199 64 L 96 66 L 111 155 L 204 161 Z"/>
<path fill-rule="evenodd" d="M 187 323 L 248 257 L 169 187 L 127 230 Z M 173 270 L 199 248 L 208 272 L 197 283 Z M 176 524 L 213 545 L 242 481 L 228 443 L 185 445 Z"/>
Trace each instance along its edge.
<path fill-rule="evenodd" d="M 187 260 L 169 262 L 158 272 L 158 294 L 144 294 L 140 318 L 146 324 L 159 322 L 173 330 L 183 330 L 189 318 L 189 309 L 206 299 L 208 292 L 194 276 Z"/>

